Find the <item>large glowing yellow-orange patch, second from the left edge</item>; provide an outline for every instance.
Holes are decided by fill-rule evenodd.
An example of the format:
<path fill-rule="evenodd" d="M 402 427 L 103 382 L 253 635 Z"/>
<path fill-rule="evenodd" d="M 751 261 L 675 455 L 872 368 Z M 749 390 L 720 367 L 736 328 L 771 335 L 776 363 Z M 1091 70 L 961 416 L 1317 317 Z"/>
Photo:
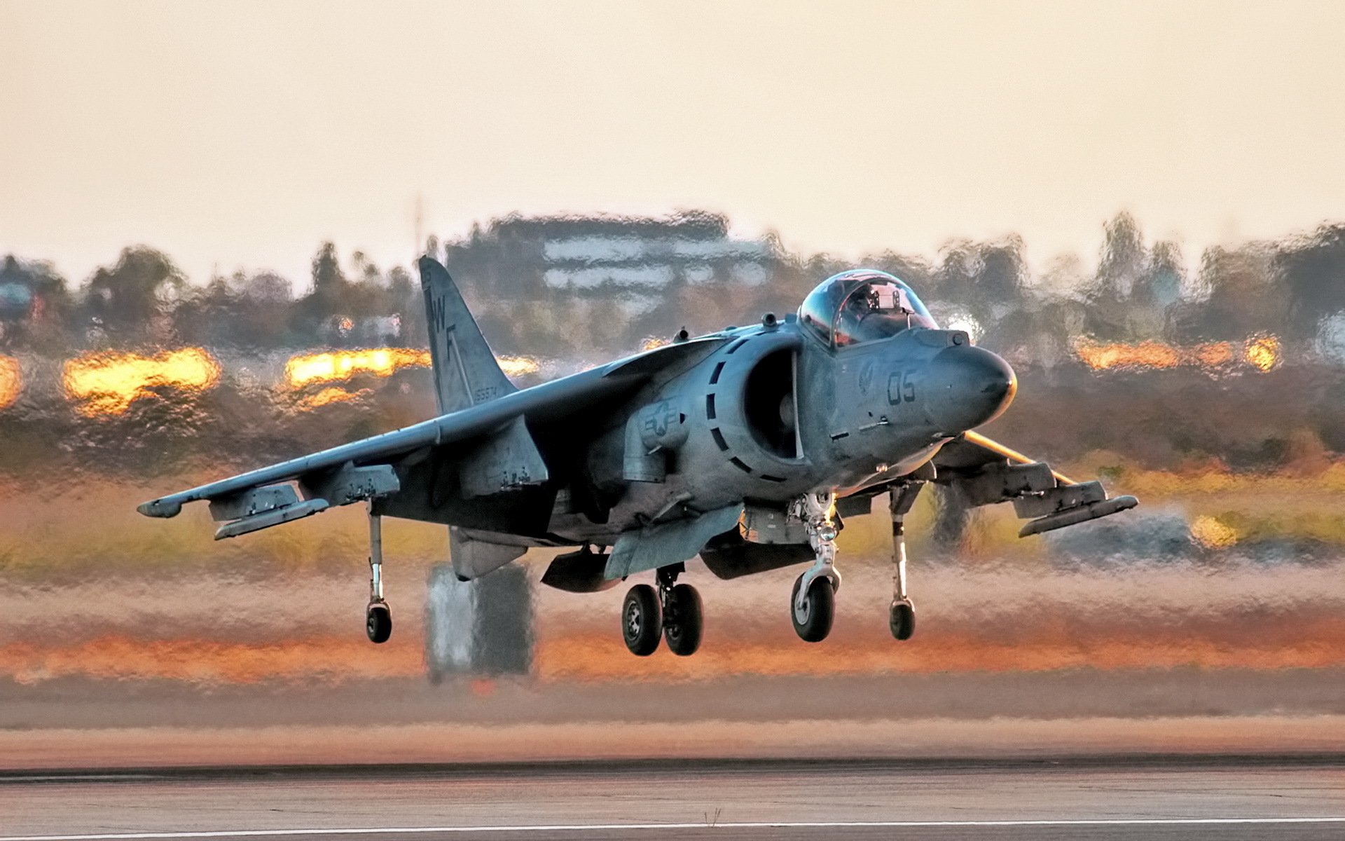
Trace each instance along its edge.
<path fill-rule="evenodd" d="M 153 357 L 90 354 L 70 359 L 61 377 L 66 396 L 81 401 L 82 414 L 121 414 L 156 388 L 204 392 L 219 382 L 219 363 L 200 347 Z"/>

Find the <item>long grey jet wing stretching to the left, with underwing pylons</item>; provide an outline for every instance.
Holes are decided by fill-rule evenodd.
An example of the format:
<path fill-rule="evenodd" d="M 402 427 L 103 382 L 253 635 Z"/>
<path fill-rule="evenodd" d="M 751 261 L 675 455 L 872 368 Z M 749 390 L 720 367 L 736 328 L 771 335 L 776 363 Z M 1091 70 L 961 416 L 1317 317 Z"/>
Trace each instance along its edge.
<path fill-rule="evenodd" d="M 432 447 L 516 436 L 519 417 L 545 423 L 582 412 L 722 342 L 722 336 L 706 336 L 636 354 L 394 432 L 151 499 L 136 510 L 147 517 L 176 517 L 188 502 L 210 502 L 217 521 L 230 521 L 215 533 L 219 540 L 309 517 L 330 506 L 394 494 L 399 486 L 391 466 L 398 462 L 422 458 Z M 291 482 L 299 483 L 303 501 Z"/>

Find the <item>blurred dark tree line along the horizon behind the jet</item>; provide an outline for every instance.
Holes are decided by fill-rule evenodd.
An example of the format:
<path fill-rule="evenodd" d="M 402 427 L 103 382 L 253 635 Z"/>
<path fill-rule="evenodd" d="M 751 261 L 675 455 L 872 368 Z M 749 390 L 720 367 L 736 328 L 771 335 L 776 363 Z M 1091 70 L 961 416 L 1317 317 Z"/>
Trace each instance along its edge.
<path fill-rule="evenodd" d="M 594 222 L 601 229 L 601 222 Z M 510 229 L 511 231 L 515 231 Z M 827 254 L 780 252 L 765 284 L 675 279 L 638 311 L 621 291 L 553 288 L 538 256 L 473 227 L 428 252 L 445 261 L 496 351 L 572 358 L 619 354 L 686 326 L 707 332 L 792 311 L 823 277 L 853 268 Z M 1120 214 L 1104 226 L 1095 269 L 1059 257 L 1038 275 L 1018 237 L 947 242 L 933 258 L 882 252 L 859 265 L 907 280 L 943 322 L 1021 362 L 1053 365 L 1071 342 L 1192 344 L 1270 334 L 1291 353 L 1345 357 L 1345 225 L 1272 242 L 1213 246 L 1184 265 L 1176 242 L 1147 244 Z M 379 269 L 360 252 L 344 261 L 331 242 L 312 258 L 308 291 L 272 272 L 234 272 L 190 284 L 172 258 L 130 246 L 73 287 L 47 262 L 0 258 L 0 291 L 27 287 L 26 312 L 0 308 L 11 349 L 50 354 L 91 347 L 200 344 L 243 350 L 422 346 L 424 303 L 402 266 Z"/>

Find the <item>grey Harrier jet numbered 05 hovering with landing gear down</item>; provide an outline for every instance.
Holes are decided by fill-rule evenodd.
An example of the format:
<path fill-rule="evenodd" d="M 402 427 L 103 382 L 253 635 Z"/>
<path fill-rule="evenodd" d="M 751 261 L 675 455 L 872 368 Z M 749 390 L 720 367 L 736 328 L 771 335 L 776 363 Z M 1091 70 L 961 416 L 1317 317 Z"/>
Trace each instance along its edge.
<path fill-rule="evenodd" d="M 831 630 L 842 518 L 888 495 L 892 635 L 908 639 L 904 518 L 929 482 L 972 506 L 1013 502 L 1038 534 L 1131 509 L 975 432 L 1017 390 L 1013 369 L 940 330 L 905 283 L 876 270 L 823 281 L 783 320 L 765 315 L 518 390 L 443 265 L 420 261 L 438 417 L 140 506 L 175 517 L 207 501 L 237 537 L 366 502 L 366 628 L 391 634 L 383 517 L 449 527 L 453 569 L 488 575 L 533 546 L 570 546 L 542 583 L 597 592 L 652 572 L 621 608 L 627 647 L 701 645 L 701 597 L 679 584 L 697 554 L 721 579 L 810 564 L 790 615 L 808 642 Z"/>

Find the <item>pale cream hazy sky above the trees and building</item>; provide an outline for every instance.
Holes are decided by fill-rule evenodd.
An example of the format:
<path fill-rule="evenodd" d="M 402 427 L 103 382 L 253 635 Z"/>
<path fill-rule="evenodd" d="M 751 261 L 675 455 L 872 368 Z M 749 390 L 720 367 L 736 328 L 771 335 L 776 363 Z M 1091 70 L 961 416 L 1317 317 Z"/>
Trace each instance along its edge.
<path fill-rule="evenodd" d="M 303 283 L 519 210 L 857 257 L 1345 219 L 1345 3 L 0 0 L 0 253 Z"/>

